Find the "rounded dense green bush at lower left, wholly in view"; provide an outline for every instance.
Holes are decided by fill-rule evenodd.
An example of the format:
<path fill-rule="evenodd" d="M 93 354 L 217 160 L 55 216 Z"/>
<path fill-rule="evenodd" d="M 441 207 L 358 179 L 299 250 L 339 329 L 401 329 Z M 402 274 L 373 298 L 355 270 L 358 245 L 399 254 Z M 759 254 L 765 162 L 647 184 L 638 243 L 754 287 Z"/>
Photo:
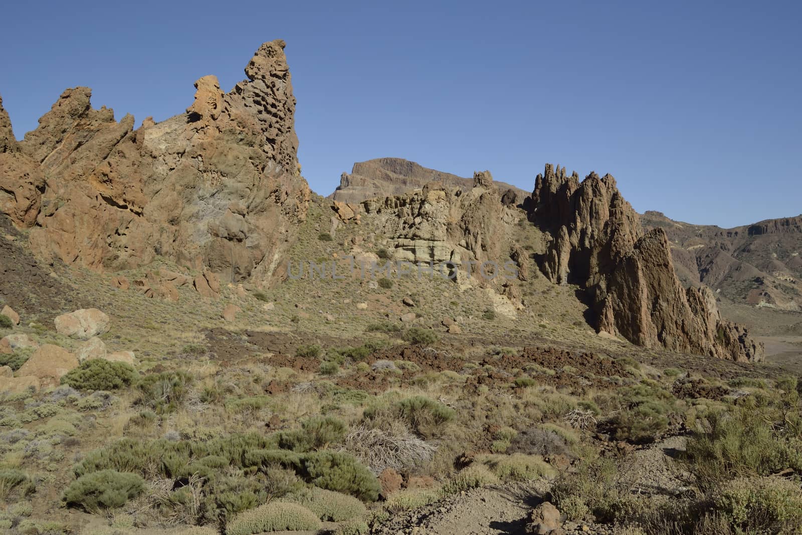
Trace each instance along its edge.
<path fill-rule="evenodd" d="M 132 473 L 103 470 L 81 476 L 64 491 L 62 500 L 67 507 L 80 507 L 87 513 L 122 507 L 140 495 L 144 480 Z"/>

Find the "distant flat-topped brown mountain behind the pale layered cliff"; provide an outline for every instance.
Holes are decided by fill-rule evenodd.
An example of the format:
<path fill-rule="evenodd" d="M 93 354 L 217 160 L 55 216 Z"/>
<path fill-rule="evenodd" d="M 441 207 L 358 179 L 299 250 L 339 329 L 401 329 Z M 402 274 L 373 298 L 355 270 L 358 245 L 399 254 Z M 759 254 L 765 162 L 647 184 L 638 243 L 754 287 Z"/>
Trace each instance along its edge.
<path fill-rule="evenodd" d="M 429 182 L 440 182 L 447 188 L 464 190 L 473 186 L 470 178 L 435 171 L 403 158 L 376 158 L 357 162 L 350 174 L 342 173 L 340 185 L 328 198 L 358 204 L 367 199 L 404 195 L 413 189 L 423 188 Z M 496 182 L 496 188 L 504 194 L 508 204 L 515 204 L 516 200 L 523 200 L 528 194 L 504 182 Z"/>

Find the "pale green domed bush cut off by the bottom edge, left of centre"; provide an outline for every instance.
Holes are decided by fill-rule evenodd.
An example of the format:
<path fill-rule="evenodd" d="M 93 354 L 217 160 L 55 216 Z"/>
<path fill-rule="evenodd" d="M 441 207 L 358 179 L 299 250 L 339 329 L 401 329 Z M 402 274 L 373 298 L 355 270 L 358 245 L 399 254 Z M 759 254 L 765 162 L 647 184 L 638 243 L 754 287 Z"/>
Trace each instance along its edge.
<path fill-rule="evenodd" d="M 302 531 L 320 529 L 320 520 L 309 509 L 298 504 L 270 502 L 233 517 L 225 526 L 226 535 L 253 535 L 270 531 Z"/>

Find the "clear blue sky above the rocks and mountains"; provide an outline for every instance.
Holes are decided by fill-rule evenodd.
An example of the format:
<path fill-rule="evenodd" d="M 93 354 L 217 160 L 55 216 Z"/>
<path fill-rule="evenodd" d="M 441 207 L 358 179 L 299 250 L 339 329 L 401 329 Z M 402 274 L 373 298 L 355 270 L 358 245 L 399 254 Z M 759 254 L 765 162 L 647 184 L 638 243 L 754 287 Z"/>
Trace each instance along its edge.
<path fill-rule="evenodd" d="M 399 156 L 533 188 L 610 172 L 639 212 L 802 212 L 802 2 L 6 2 L 0 95 L 21 138 L 66 87 L 137 124 L 229 91 L 282 38 L 303 174 Z"/>

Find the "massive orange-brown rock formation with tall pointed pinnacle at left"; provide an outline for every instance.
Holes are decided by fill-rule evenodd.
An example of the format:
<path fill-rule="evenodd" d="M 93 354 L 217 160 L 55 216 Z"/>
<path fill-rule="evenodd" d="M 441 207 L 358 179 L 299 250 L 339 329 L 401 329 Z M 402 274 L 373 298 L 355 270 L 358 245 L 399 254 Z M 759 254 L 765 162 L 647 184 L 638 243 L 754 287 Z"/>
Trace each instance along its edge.
<path fill-rule="evenodd" d="M 64 91 L 17 142 L 0 107 L 0 210 L 33 227 L 46 261 L 122 270 L 156 255 L 269 286 L 306 217 L 295 98 L 281 40 L 264 43 L 229 93 L 196 84 L 185 113 L 116 122 L 91 91 Z"/>

